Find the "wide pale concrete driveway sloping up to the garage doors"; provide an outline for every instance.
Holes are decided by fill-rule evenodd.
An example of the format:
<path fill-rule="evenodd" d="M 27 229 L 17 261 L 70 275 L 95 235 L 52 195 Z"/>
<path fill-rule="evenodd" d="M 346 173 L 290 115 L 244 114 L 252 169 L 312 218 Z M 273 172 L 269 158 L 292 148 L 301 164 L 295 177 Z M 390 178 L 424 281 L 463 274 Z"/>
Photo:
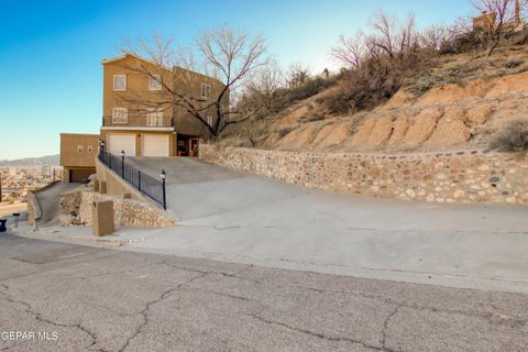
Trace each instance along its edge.
<path fill-rule="evenodd" d="M 361 277 L 528 293 L 527 209 L 336 195 L 191 158 L 168 175 L 177 227 L 125 230 L 142 251 Z"/>

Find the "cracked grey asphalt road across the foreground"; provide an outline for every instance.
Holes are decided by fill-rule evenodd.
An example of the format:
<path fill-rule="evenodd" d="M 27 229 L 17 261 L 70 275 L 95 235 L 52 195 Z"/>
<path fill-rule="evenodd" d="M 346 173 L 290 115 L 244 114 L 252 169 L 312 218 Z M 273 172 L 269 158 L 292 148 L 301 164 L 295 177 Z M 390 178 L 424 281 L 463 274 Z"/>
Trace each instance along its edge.
<path fill-rule="evenodd" d="M 11 331 L 21 333 L 18 340 Z M 0 235 L 0 351 L 483 352 L 527 346 L 528 296 L 520 294 Z"/>

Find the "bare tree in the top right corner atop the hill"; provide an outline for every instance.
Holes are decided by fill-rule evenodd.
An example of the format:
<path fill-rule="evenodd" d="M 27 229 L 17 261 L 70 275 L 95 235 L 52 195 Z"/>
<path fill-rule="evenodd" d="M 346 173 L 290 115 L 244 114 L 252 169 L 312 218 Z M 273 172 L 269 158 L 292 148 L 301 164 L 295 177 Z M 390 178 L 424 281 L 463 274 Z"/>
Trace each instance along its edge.
<path fill-rule="evenodd" d="M 516 30 L 527 11 L 527 0 L 472 0 L 473 7 L 488 23 L 481 26 L 491 56 L 505 36 Z"/>

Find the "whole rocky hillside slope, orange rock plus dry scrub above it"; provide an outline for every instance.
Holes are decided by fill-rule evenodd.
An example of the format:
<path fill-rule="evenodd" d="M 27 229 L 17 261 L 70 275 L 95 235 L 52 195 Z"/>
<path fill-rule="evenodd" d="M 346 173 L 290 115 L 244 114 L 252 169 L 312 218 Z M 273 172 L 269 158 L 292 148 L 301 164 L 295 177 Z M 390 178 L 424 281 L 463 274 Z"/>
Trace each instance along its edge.
<path fill-rule="evenodd" d="M 506 121 L 528 118 L 528 48 L 504 47 L 492 58 L 443 57 L 371 111 L 329 113 L 320 102 L 332 89 L 339 87 L 238 127 L 221 144 L 332 152 L 485 148 Z"/>

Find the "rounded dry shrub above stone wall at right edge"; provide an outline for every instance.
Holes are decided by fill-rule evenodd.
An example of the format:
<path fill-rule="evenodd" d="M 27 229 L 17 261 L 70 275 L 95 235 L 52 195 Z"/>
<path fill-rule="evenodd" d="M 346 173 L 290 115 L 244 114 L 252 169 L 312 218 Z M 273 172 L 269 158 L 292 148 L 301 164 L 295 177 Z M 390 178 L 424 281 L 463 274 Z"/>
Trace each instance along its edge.
<path fill-rule="evenodd" d="M 516 119 L 506 123 L 490 146 L 503 152 L 528 151 L 528 119 Z"/>

